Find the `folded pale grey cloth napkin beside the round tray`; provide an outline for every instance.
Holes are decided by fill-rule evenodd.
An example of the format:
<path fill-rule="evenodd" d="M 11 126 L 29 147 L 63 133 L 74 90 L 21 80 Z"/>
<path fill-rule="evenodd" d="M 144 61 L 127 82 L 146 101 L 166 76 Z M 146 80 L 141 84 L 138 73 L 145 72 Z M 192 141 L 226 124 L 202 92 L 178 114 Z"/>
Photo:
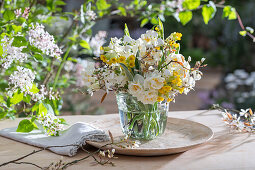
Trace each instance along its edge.
<path fill-rule="evenodd" d="M 15 128 L 6 128 L 0 130 L 0 135 L 29 145 L 46 148 L 49 146 L 65 146 L 51 147 L 49 150 L 60 155 L 74 156 L 87 140 L 96 142 L 105 142 L 109 140 L 109 136 L 104 131 L 97 129 L 86 123 L 76 123 L 61 133 L 60 136 L 47 136 L 39 130 L 33 130 L 29 133 L 16 132 Z"/>

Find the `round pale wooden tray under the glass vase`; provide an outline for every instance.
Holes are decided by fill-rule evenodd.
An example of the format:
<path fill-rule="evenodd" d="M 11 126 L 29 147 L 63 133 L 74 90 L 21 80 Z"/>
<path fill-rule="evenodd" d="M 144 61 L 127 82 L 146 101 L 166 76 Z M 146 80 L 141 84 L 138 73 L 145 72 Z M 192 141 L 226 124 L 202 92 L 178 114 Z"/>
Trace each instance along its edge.
<path fill-rule="evenodd" d="M 97 121 L 94 122 L 94 125 L 105 131 L 110 130 L 114 136 L 114 142 L 118 142 L 124 137 L 118 118 Z M 205 125 L 185 119 L 168 118 L 165 133 L 154 140 L 140 141 L 139 147 L 135 148 L 122 148 L 121 146 L 126 146 L 123 143 L 123 145 L 120 144 L 121 146 L 112 145 L 104 149 L 112 147 L 115 149 L 115 153 L 123 155 L 159 156 L 185 152 L 209 141 L 212 137 L 213 131 Z M 109 142 L 87 141 L 87 143 L 100 148 Z"/>

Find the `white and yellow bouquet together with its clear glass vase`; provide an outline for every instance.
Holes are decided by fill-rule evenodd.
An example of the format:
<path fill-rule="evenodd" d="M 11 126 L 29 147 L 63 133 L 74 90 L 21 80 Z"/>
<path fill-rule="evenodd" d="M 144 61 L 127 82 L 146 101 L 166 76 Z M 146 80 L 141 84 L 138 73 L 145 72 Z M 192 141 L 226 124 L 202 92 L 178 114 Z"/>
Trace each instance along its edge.
<path fill-rule="evenodd" d="M 191 57 L 186 60 L 179 53 L 182 34 L 174 32 L 164 39 L 163 30 L 159 21 L 135 40 L 126 26 L 123 38 L 112 38 L 109 46 L 101 48 L 102 62 L 88 64 L 83 74 L 91 94 L 99 89 L 116 92 L 120 114 L 126 114 L 121 116 L 123 132 L 132 137 L 151 139 L 163 133 L 168 103 L 177 94 L 187 94 L 201 79 L 199 68 L 205 59 L 191 68 Z"/>

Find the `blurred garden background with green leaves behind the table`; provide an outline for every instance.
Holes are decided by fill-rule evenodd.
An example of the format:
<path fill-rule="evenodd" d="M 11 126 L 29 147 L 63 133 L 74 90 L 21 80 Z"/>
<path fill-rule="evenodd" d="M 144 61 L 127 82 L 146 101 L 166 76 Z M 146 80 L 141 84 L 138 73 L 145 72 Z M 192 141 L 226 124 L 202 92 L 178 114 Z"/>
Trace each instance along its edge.
<path fill-rule="evenodd" d="M 25 7 L 30 7 L 28 21 L 40 22 L 45 25 L 45 29 L 54 35 L 60 48 L 66 52 L 66 63 L 62 64 L 62 62 L 58 63 L 54 60 L 53 67 L 48 68 L 50 61 L 47 59 L 48 65 L 46 64 L 45 68 L 50 70 L 50 74 L 44 74 L 43 62 L 38 65 L 39 67 L 36 67 L 37 71 L 41 73 L 36 77 L 36 81 L 39 83 L 44 79 L 43 84 L 46 82 L 47 86 L 59 89 L 62 96 L 60 100 L 50 104 L 54 105 L 52 107 L 54 112 L 57 112 L 56 114 L 116 113 L 118 109 L 115 95 L 108 94 L 103 103 L 100 103 L 104 92 L 99 91 L 92 97 L 85 94 L 86 89 L 77 87 L 79 82 L 73 79 L 72 67 L 75 67 L 75 64 L 81 60 L 93 60 L 97 53 L 96 50 L 91 49 L 98 45 L 97 43 L 107 45 L 110 37 L 122 37 L 125 23 L 129 27 L 131 37 L 138 38 L 153 25 L 158 24 L 157 18 L 163 21 L 166 36 L 171 32 L 183 34 L 180 43 L 181 53 L 184 56 L 192 56 L 194 61 L 205 57 L 205 63 L 208 65 L 206 68 L 202 68 L 204 76 L 197 83 L 195 91 L 188 95 L 178 96 L 176 102 L 171 103 L 170 110 L 208 109 L 216 103 L 226 108 L 251 107 L 254 109 L 254 39 L 246 36 L 253 34 L 252 28 L 255 27 L 255 11 L 253 9 L 255 2 L 252 0 L 2 0 L 0 2 L 1 15 L 3 16 L 1 29 L 6 26 L 6 23 L 11 23 L 15 19 L 14 16 L 9 15 L 12 14 L 10 11 L 19 8 L 24 11 Z M 204 7 L 207 10 L 203 13 Z M 225 9 L 225 7 L 229 8 Z M 213 10 L 210 12 L 211 9 Z M 241 17 L 242 23 L 235 15 L 235 10 Z M 90 13 L 91 18 L 88 18 L 88 11 L 95 11 L 96 17 Z M 185 13 L 185 11 L 188 12 Z M 233 12 L 234 17 L 231 18 L 230 14 Z M 177 14 L 179 18 L 176 16 Z M 206 17 L 207 19 L 205 19 Z M 24 20 L 18 22 L 22 23 Z M 244 28 L 242 28 L 242 24 Z M 16 27 L 6 27 L 7 31 L 8 29 L 15 30 Z M 1 33 L 6 30 L 2 29 Z M 100 31 L 106 31 L 106 37 L 104 32 L 101 32 L 100 35 Z M 81 36 L 79 37 L 78 34 Z M 40 55 L 34 57 L 36 60 L 41 59 Z M 65 57 L 64 54 L 63 57 Z M 76 59 L 77 57 L 79 60 Z M 57 67 L 61 67 L 61 69 L 63 67 L 63 70 L 59 70 Z M 14 68 L 15 66 L 11 71 Z M 6 75 L 10 74 L 11 72 L 1 72 L 1 94 L 5 96 L 2 97 L 3 101 L 10 98 L 4 92 L 4 89 L 8 87 Z M 57 79 L 54 80 L 53 78 L 56 76 Z M 5 105 L 6 102 L 2 103 Z M 23 103 L 26 103 L 25 99 Z M 9 107 L 8 112 L 1 111 L 0 118 L 6 115 L 12 117 L 17 113 L 21 117 L 26 115 L 26 111 L 29 112 L 29 110 L 22 110 L 20 105 L 16 108 L 13 107 L 12 110 Z"/>

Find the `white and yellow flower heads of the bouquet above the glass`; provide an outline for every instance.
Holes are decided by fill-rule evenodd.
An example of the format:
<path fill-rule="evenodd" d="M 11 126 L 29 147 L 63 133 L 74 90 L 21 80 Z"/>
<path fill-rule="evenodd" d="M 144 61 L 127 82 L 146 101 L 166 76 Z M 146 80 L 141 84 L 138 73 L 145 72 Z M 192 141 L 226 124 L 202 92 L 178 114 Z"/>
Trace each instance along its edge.
<path fill-rule="evenodd" d="M 201 79 L 204 58 L 191 68 L 179 53 L 182 34 L 174 32 L 165 40 L 163 25 L 148 30 L 137 40 L 129 36 L 112 38 L 101 48 L 100 66 L 88 64 L 83 83 L 90 93 L 99 89 L 128 92 L 144 104 L 174 101 L 177 94 L 187 94 Z"/>

